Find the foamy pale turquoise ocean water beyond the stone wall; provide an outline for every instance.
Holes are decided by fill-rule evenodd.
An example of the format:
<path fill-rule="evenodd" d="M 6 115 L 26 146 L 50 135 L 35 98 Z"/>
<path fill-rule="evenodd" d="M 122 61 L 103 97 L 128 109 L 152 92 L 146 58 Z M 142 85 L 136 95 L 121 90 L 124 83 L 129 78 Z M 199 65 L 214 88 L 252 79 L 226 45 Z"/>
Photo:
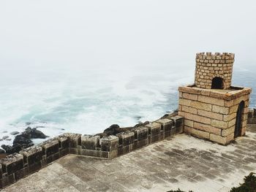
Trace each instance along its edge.
<path fill-rule="evenodd" d="M 173 67 L 176 66 L 176 67 Z M 185 65 L 186 66 L 186 65 Z M 38 127 L 49 137 L 97 134 L 117 123 L 134 126 L 178 107 L 178 86 L 192 83 L 195 64 L 26 70 L 1 74 L 0 135 Z M 252 66 L 236 67 L 233 85 L 255 88 Z M 256 107 L 252 93 L 251 107 Z M 34 142 L 42 142 L 35 139 Z M 1 141 L 11 144 L 11 141 Z"/>

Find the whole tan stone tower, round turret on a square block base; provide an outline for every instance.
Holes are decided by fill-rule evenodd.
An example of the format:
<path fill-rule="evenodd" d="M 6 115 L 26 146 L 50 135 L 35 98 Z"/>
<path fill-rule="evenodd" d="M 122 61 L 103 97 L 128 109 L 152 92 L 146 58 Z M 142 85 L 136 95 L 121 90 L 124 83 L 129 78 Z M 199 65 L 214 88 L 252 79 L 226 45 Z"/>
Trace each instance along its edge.
<path fill-rule="evenodd" d="M 197 53 L 195 84 L 181 86 L 184 132 L 227 145 L 246 131 L 251 88 L 231 86 L 233 53 Z"/>

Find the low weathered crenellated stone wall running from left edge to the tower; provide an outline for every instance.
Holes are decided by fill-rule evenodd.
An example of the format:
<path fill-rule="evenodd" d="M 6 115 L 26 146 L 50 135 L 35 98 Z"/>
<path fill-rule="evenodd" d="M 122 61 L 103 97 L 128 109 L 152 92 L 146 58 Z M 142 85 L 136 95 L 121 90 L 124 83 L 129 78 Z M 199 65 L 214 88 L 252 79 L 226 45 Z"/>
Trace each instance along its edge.
<path fill-rule="evenodd" d="M 39 171 L 67 154 L 97 158 L 116 158 L 151 143 L 183 132 L 184 118 L 165 115 L 146 126 L 132 128 L 116 136 L 62 134 L 39 145 L 0 160 L 0 190 Z"/>

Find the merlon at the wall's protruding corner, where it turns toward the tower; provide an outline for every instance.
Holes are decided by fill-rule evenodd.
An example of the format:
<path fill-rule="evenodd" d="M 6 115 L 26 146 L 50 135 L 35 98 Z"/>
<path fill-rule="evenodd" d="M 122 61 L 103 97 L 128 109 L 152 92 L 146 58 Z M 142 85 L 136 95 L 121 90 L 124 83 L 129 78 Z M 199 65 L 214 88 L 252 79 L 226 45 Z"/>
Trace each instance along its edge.
<path fill-rule="evenodd" d="M 99 145 L 101 146 L 102 151 L 117 151 L 119 139 L 118 137 L 113 135 L 110 135 L 108 137 L 102 137 L 101 139 L 99 139 Z"/>

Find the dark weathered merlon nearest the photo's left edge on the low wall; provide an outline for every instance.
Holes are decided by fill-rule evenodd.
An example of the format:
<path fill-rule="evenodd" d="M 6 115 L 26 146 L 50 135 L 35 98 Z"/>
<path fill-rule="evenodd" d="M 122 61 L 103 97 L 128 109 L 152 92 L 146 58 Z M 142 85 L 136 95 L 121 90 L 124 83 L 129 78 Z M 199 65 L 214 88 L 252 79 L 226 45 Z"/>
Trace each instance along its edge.
<path fill-rule="evenodd" d="M 0 164 L 2 166 L 2 172 L 7 174 L 13 174 L 23 169 L 23 155 L 19 153 L 13 153 L 5 158 L 0 159 Z"/>

